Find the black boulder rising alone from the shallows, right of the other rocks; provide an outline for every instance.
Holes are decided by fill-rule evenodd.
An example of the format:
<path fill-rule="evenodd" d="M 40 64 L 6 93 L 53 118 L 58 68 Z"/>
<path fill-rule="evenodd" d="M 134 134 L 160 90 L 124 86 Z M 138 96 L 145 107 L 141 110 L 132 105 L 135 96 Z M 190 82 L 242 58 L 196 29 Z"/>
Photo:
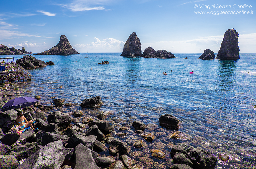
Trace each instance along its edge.
<path fill-rule="evenodd" d="M 179 120 L 171 114 L 161 115 L 159 123 L 164 128 L 176 129 L 179 128 Z"/>

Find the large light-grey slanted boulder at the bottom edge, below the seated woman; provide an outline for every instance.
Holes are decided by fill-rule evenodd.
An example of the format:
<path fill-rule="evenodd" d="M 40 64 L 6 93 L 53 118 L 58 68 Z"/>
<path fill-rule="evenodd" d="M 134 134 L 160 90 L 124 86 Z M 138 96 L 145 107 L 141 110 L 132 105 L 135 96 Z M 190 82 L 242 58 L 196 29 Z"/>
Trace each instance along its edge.
<path fill-rule="evenodd" d="M 65 149 L 62 141 L 54 141 L 28 157 L 17 169 L 60 168 L 71 149 Z"/>

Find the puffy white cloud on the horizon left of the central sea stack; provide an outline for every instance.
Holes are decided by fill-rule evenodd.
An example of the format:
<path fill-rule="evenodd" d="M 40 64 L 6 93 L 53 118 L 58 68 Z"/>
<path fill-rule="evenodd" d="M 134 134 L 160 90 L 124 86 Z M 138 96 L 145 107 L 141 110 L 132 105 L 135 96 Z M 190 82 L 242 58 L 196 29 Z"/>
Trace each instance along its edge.
<path fill-rule="evenodd" d="M 119 41 L 114 38 L 106 38 L 101 41 L 97 37 L 94 37 L 94 42 L 89 44 L 77 44 L 74 45 L 75 48 L 80 49 L 80 51 L 90 50 L 95 52 L 121 52 L 123 51 L 123 45 L 125 42 Z"/>

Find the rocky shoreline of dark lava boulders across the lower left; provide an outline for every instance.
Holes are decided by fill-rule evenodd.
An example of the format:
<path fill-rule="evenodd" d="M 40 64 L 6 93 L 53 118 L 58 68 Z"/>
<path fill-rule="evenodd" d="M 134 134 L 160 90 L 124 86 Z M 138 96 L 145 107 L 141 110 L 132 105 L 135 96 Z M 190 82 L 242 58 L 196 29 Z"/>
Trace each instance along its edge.
<path fill-rule="evenodd" d="M 65 102 L 65 99 L 53 98 L 54 96 L 46 101 L 43 99 L 44 96 L 35 96 L 36 93 L 34 95 L 30 93 L 26 89 L 27 83 L 30 82 L 15 84 L 6 82 L 1 85 L 1 102 L 24 94 L 34 96 L 36 99 L 42 98 L 39 100 L 40 103 L 24 110 L 24 116 L 28 120 L 35 120 L 35 127 L 38 127 L 40 131 L 37 133 L 33 130 L 26 131 L 15 143 L 0 145 L 1 149 L 5 149 L 1 152 L 1 158 L 8 157 L 15 161 L 8 168 L 30 168 L 27 165 L 29 162 L 33 163 L 31 166 L 34 165 L 34 161 L 40 159 L 39 154 L 47 154 L 48 149 L 56 149 L 56 147 L 61 152 L 53 152 L 55 157 L 52 158 L 58 157 L 60 161 L 56 164 L 58 167 L 66 164 L 70 168 L 78 168 L 79 165 L 86 168 L 86 164 L 90 164 L 89 168 L 93 168 L 92 165 L 94 168 L 134 169 L 214 168 L 216 164 L 216 155 L 186 143 L 189 136 L 178 131 L 180 123 L 174 116 L 162 115 L 159 118 L 160 126 L 145 125 L 142 120 L 135 119 L 123 125 L 121 119 L 117 122 L 108 118 L 112 112 L 99 111 L 100 105 L 103 104 L 99 96 L 84 99 L 81 105 Z M 89 107 L 85 106 L 86 104 L 89 104 Z M 9 111 L 13 114 L 11 118 L 16 119 L 15 110 Z M 8 128 L 12 127 L 15 122 L 11 123 L 11 120 L 6 124 L 7 121 L 3 122 L 2 117 L 1 112 L 1 128 L 4 131 L 2 134 L 8 135 Z M 169 122 L 174 125 L 170 125 Z M 1 141 L 4 140 L 4 136 L 0 136 Z M 88 153 L 91 158 L 85 159 L 79 151 Z M 62 158 L 59 154 L 62 154 Z M 27 158 L 26 162 L 17 166 L 17 162 L 25 158 Z M 227 158 L 228 156 L 225 155 L 219 157 L 222 160 Z"/>

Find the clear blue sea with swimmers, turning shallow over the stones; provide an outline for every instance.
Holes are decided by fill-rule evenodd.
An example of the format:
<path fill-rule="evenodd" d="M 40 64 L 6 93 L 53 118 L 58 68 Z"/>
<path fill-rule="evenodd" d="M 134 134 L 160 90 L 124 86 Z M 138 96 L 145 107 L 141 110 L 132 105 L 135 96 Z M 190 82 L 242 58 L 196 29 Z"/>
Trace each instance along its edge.
<path fill-rule="evenodd" d="M 173 54 L 176 58 L 121 57 L 121 53 L 88 53 L 88 58 L 84 58 L 86 53 L 33 55 L 55 65 L 28 70 L 32 81 L 26 83 L 31 91 L 26 95 L 40 95 L 40 102 L 48 104 L 53 96 L 64 98 L 91 116 L 95 111 L 109 111 L 105 120 L 115 126 L 116 133 L 126 133 L 113 136 L 131 146 L 129 156 L 144 168 L 150 168 L 145 158 L 153 161 L 151 168 L 161 168 L 157 163 L 169 168 L 170 150 L 178 143 L 212 153 L 218 158 L 218 169 L 256 168 L 256 54 L 240 53 L 238 60 L 201 60 L 201 53 Z M 23 56 L 8 55 L 14 60 Z M 109 64 L 98 64 L 102 61 Z M 100 108 L 80 107 L 83 99 L 97 95 L 104 102 Z M 160 126 L 158 119 L 164 114 L 180 120 L 181 138 L 171 138 L 176 130 Z M 142 139 L 131 127 L 135 120 L 144 122 L 144 132 L 156 137 L 152 143 L 143 140 L 142 150 L 132 146 Z M 122 131 L 119 126 L 129 129 Z M 152 149 L 163 151 L 166 157 L 152 157 Z M 220 160 L 220 155 L 229 157 L 228 161 Z"/>

